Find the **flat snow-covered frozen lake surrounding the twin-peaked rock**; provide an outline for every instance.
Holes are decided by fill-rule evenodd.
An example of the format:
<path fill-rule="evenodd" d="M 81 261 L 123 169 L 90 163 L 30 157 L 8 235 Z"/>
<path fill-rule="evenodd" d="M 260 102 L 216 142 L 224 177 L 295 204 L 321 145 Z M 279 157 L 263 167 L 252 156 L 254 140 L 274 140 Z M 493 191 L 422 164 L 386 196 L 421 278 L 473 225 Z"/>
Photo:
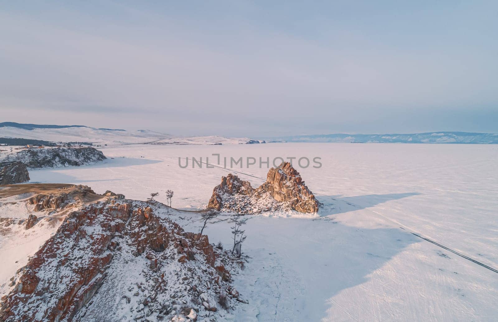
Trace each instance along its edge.
<path fill-rule="evenodd" d="M 498 268 L 498 146 L 422 144 L 132 145 L 102 164 L 31 170 L 31 182 L 86 184 L 144 200 L 175 191 L 172 206 L 204 208 L 230 169 L 180 168 L 178 157 L 244 158 L 253 186 L 267 168 L 247 157 L 320 157 L 296 167 L 324 203 L 318 217 L 251 218 L 235 283 L 250 299 L 237 321 L 497 321 L 498 274 L 416 232 Z M 122 158 L 124 157 L 124 158 Z M 279 162 L 278 162 L 279 163 Z M 184 164 L 184 161 L 182 161 Z M 223 165 L 223 161 L 222 161 Z M 270 164 L 271 166 L 271 164 Z M 267 214 L 269 215 L 269 214 Z M 195 219 L 195 218 L 194 218 Z M 197 222 L 185 221 L 195 231 Z M 224 222 L 211 242 L 229 244 Z"/>

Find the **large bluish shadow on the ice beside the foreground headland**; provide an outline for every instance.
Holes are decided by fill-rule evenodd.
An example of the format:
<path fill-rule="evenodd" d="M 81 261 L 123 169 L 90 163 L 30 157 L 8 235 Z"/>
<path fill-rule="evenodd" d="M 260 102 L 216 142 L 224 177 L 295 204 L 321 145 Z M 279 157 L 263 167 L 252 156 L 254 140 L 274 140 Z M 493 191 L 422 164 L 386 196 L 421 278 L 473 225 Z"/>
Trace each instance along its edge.
<path fill-rule="evenodd" d="M 220 222 L 208 226 L 207 234 L 230 245 L 229 227 Z M 252 216 L 244 228 L 251 259 L 234 282 L 257 307 L 259 321 L 328 319 L 329 310 L 341 308 L 334 296 L 366 283 L 391 258 L 420 242 L 402 229 L 354 227 L 333 218 Z"/>

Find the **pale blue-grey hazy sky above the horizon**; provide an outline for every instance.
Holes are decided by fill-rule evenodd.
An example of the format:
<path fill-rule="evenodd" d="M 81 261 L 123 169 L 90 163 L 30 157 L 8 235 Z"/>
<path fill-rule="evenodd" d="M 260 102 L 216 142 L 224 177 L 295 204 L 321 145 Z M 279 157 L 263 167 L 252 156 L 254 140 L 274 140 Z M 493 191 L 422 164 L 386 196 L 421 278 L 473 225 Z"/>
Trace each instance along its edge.
<path fill-rule="evenodd" d="M 0 122 L 498 133 L 497 16 L 497 1 L 2 1 Z"/>

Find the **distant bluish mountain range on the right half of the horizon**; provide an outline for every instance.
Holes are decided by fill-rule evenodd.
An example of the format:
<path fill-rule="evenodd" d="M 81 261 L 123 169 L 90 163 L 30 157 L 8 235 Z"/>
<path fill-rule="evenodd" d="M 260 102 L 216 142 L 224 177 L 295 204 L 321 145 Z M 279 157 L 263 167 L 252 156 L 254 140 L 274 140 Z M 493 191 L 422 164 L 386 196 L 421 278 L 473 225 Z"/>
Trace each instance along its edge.
<path fill-rule="evenodd" d="M 317 134 L 266 138 L 266 142 L 498 144 L 498 134 L 427 132 L 414 134 Z"/>

